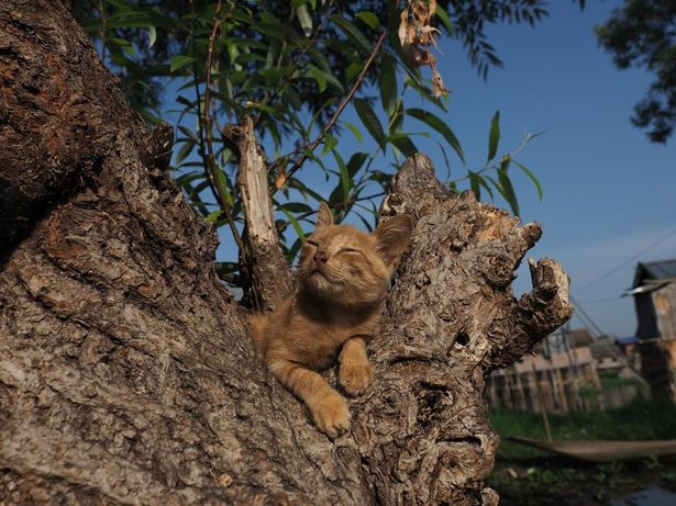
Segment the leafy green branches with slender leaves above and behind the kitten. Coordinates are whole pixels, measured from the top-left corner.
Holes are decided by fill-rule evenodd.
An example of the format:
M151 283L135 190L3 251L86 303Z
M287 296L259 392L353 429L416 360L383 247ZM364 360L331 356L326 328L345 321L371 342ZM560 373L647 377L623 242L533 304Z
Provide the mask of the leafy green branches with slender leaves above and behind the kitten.
M476 166L466 160L436 68L436 38L447 36L485 77L501 65L485 30L535 24L547 15L541 2L74 0L73 7L132 106L151 124L177 124L173 175L231 246L219 272L235 285L247 276L232 247L246 255L237 154L220 133L245 115L268 157L288 261L319 200L339 222L352 215L373 226L377 199L421 142L445 161L451 191L495 195L514 214L514 173L542 194L533 172L514 159L523 146L499 145L497 112L486 117L488 156Z

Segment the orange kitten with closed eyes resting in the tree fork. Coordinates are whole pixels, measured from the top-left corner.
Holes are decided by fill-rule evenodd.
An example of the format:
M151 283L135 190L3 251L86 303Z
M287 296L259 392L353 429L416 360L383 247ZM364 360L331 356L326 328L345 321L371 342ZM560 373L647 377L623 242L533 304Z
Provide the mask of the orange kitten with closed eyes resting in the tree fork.
M347 394L369 385L366 341L377 330L389 280L412 228L409 216L395 216L373 234L334 225L322 202L317 230L300 252L296 294L269 315L252 319L252 337L270 371L331 438L350 429L350 411L317 371L337 356L337 380Z

